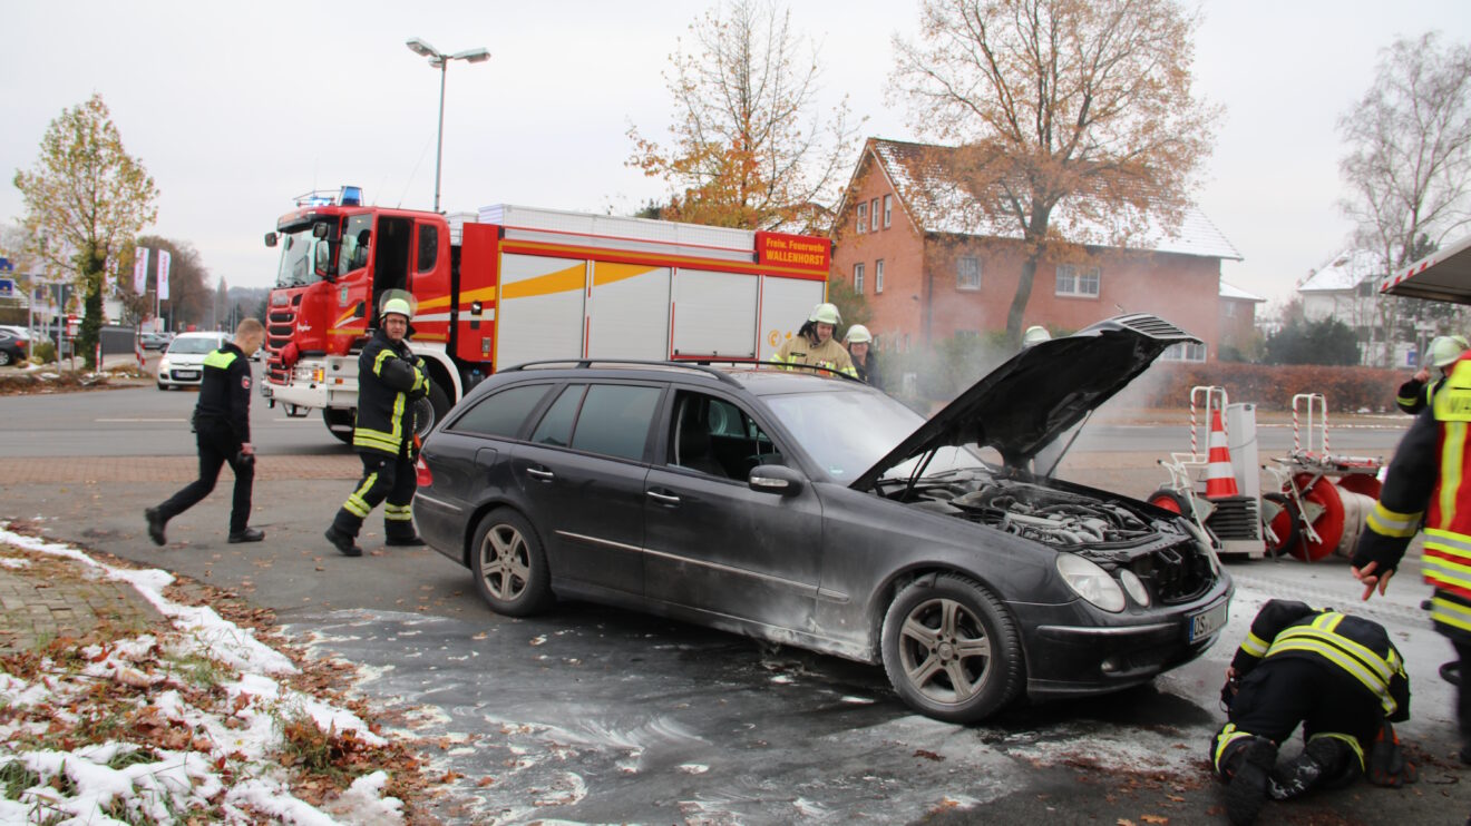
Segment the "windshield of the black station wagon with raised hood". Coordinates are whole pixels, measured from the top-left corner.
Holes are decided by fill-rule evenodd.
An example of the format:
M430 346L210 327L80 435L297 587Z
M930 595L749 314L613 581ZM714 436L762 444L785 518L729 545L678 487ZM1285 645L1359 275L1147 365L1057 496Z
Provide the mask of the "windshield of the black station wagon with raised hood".
M768 395L766 404L803 450L840 482L858 479L924 423L922 416L899 401L859 389ZM905 478L913 473L915 462L896 464L884 476ZM956 467L984 464L965 448L941 448L925 473Z

